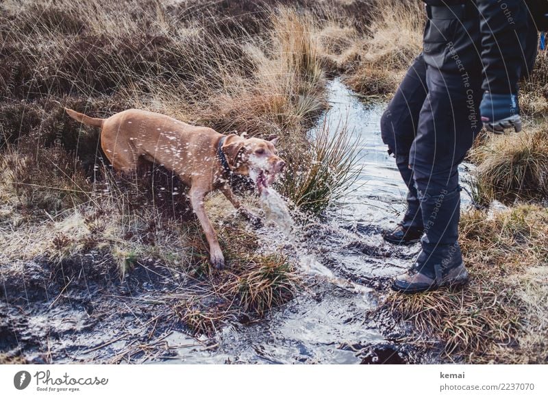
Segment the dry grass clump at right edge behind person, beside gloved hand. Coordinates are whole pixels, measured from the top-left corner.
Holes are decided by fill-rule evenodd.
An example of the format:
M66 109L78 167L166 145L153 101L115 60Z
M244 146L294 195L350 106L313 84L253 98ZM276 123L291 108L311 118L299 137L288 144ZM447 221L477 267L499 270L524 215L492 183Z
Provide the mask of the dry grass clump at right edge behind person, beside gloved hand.
M497 199L543 201L548 197L548 54L539 51L534 69L519 92L523 132L482 134L471 153L477 165L475 200L485 206Z

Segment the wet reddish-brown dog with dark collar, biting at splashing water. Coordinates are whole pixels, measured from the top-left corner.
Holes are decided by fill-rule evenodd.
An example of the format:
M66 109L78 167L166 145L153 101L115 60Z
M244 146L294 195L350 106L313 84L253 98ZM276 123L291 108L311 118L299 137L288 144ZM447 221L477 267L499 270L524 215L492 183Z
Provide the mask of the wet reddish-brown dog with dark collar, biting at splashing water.
M269 186L284 169L277 156L277 138L242 138L225 136L208 127L188 125L169 116L130 109L108 119L95 119L65 108L73 119L101 127L101 147L114 170L136 171L140 158L160 164L177 173L190 187L192 210L197 215L210 245L211 263L223 268L225 258L203 201L212 190L219 189L248 219L256 219L242 208L228 183L230 173L249 175L259 192Z

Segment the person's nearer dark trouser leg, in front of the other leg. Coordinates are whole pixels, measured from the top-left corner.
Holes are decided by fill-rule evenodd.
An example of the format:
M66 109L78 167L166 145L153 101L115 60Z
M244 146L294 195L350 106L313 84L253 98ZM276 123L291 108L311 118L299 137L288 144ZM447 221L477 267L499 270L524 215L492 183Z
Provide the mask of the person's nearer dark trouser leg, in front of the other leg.
M480 77L478 72L466 80L427 67L428 95L410 161L425 226L417 265L428 277L462 263L458 165L479 132Z

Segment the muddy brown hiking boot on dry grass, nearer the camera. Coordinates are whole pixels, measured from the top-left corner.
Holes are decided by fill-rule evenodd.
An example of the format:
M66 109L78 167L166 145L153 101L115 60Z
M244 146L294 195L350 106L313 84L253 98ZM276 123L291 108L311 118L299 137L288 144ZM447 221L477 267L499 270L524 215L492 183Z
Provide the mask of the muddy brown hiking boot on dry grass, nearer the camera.
M419 293L436 290L442 286L462 286L468 281L468 271L462 262L451 269L436 267L436 277L434 278L419 272L418 264L415 264L406 273L402 273L394 279L392 290L401 293Z

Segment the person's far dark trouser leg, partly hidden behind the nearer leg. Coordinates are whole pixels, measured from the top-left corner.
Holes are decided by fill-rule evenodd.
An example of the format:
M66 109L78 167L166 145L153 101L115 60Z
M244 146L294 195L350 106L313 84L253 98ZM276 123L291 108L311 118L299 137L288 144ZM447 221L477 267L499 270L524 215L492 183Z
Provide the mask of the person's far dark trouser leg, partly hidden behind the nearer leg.
M381 118L382 140L388 145L388 151L395 154L399 173L408 187L408 208L400 223L405 228L423 227L413 171L409 168L409 152L416 136L419 113L426 95L426 67L422 55L419 55Z

